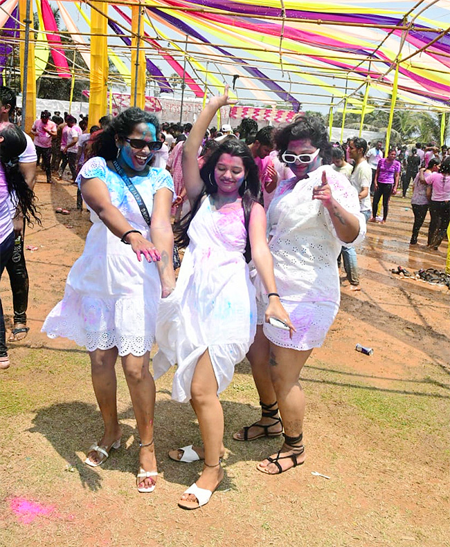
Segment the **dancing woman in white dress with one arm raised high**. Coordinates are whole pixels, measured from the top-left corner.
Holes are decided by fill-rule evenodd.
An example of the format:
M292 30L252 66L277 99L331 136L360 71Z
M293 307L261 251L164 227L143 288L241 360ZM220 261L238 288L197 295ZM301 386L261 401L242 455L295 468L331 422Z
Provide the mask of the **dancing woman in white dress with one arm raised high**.
M224 416L217 394L231 382L256 326L246 249L251 250L267 292L276 293L266 216L257 203L258 169L251 151L231 137L220 143L201 171L197 163L201 139L217 109L225 104L230 104L228 88L206 105L184 145L183 177L192 214L182 223L180 242L189 243L177 287L161 301L156 326L155 378L178 364L172 398L190 401L204 443L203 448L190 445L169 453L177 461L204 459L200 478L179 501L184 509L208 503L223 478ZM267 320L274 317L291 326L276 297L270 299L265 315Z

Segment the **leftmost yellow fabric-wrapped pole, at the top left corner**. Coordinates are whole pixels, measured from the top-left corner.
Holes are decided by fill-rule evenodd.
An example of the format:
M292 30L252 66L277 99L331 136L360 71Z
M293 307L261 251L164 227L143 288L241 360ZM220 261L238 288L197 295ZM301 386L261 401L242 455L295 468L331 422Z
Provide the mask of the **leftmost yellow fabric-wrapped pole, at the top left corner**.
M19 0L19 19L21 22L26 21L26 0ZM30 19L33 19L33 1L30 6ZM36 59L35 59L35 32L33 30L33 21L31 21L30 33L28 36L28 67L26 77L26 89L24 89L24 73L25 73L25 28L23 25L19 27L19 57L20 57L20 82L22 89L22 97L25 98L25 120L24 131L30 133L31 126L36 119ZM24 104L22 104L24 106Z

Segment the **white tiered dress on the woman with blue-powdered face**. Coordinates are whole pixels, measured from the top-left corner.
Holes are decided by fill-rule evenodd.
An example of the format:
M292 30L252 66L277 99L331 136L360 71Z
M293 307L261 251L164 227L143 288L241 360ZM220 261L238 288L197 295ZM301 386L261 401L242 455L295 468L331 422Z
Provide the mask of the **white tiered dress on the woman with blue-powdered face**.
M111 203L143 237L150 240L136 200L122 178L107 167L103 158L91 158L80 177L100 178ZM161 188L174 190L165 169L151 168L148 176L133 177L149 214L153 196ZM138 261L131 245L125 245L91 211L91 230L83 254L73 264L66 281L64 298L48 314L42 332L74 340L88 351L118 348L119 355L143 355L155 338L156 313L161 298L156 263Z

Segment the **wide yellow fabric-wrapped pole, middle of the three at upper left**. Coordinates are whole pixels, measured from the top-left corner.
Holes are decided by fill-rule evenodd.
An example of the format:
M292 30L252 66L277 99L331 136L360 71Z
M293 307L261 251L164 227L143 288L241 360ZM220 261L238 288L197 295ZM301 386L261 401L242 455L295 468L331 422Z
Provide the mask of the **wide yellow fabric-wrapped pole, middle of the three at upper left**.
M95 9L94 9L95 8ZM108 4L92 2L91 8L91 76L89 93L89 122L97 124L107 111L107 10Z

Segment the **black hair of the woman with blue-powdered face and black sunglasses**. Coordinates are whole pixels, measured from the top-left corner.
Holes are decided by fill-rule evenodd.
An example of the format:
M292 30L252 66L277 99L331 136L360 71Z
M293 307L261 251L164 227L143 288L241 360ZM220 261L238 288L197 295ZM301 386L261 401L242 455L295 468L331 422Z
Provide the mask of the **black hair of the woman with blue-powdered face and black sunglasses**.
M100 156L105 160L117 158L116 135L123 140L133 132L136 125L147 123L154 125L156 135L159 133L159 121L154 114L150 114L136 106L124 110L93 140L93 156Z

